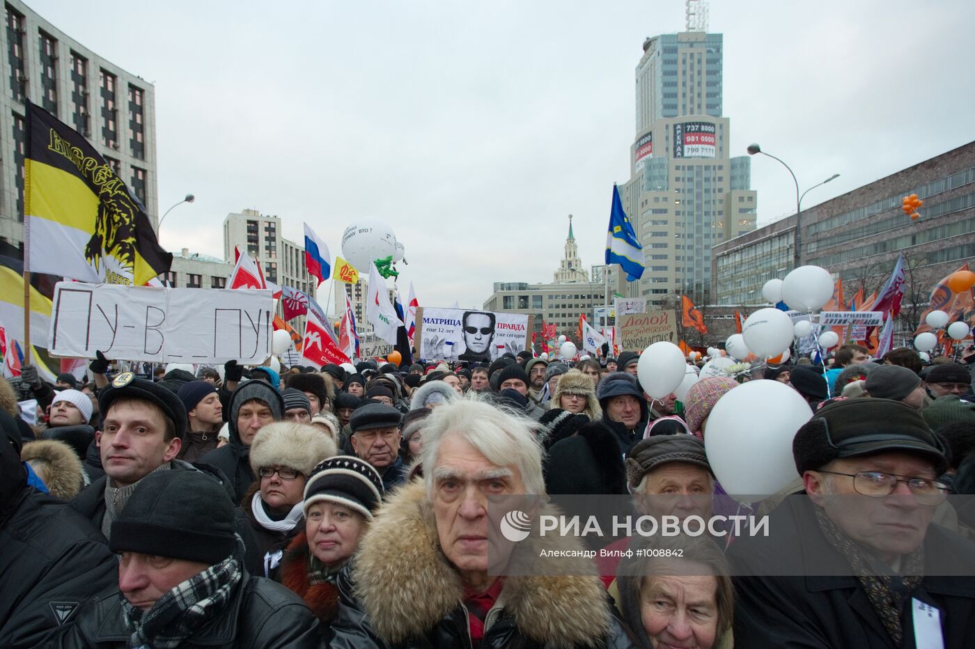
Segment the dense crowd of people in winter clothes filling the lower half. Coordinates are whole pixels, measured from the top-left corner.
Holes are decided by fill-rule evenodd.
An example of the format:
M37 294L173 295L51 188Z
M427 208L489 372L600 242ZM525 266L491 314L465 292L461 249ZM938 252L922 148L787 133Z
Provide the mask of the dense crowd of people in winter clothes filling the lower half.
M639 360L141 377L99 353L90 382L55 385L25 365L0 381L0 646L973 646L975 506L948 497L975 495L975 354L844 345L683 400L648 398ZM714 514L709 418L757 380L813 413L799 479L752 504L775 534L619 538L591 573L493 569L511 551L488 534L492 496Z

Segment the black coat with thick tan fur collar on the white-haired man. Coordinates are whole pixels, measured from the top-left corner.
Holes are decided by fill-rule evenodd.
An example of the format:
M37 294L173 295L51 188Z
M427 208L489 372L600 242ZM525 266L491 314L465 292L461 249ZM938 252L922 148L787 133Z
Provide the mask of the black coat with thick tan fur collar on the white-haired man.
M531 543L537 545L527 550L533 555L543 549L581 550L566 538ZM337 586L339 609L328 631L330 647L471 646L460 575L440 549L422 481L405 485L383 505ZM485 631L481 646L486 649L635 646L595 574L510 576L498 601L503 610Z

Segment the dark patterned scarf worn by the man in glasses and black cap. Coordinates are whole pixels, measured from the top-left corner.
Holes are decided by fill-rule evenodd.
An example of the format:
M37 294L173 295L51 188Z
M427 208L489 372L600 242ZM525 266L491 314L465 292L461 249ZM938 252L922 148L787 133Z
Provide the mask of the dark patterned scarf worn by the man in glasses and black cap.
M904 630L901 625L901 611L904 609L904 601L911 596L911 593L920 586L924 568L924 548L921 546L911 554L903 557L903 571L909 577L902 577L898 573L892 573L890 568L879 564L877 559L864 551L853 539L849 538L837 527L828 515L820 507L813 508L819 522L819 528L823 531L823 536L830 542L839 554L846 557L853 571L856 572L857 579L867 596L874 610L883 623L883 628L890 633L894 640L894 645L901 646L904 639Z

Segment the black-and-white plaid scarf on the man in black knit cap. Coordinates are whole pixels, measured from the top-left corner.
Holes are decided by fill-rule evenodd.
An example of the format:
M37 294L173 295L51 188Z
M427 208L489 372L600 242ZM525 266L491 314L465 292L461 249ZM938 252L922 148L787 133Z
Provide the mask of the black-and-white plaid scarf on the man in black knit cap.
M244 542L237 537L234 554L163 593L148 611L122 597L122 610L132 630L129 647L169 649L210 622L230 601L243 577Z

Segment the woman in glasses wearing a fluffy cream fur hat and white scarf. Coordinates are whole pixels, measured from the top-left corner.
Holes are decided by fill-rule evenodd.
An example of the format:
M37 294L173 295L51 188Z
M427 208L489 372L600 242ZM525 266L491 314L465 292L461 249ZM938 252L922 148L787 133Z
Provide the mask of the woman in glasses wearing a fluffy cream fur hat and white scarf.
M311 424L277 422L254 436L250 460L257 479L240 506L254 529L256 548L248 548L249 554L262 557L264 577L300 531L306 480L315 465L334 454L335 442Z

